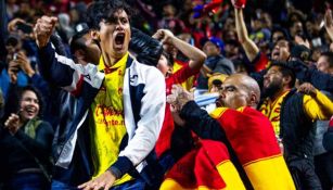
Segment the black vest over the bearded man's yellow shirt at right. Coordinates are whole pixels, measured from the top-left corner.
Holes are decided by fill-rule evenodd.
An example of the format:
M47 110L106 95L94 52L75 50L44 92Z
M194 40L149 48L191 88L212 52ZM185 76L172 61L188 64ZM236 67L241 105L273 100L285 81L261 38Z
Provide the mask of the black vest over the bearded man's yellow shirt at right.
M280 137L284 159L297 189L321 189L313 165L316 127L304 111L304 94L290 91L284 98L280 113Z

